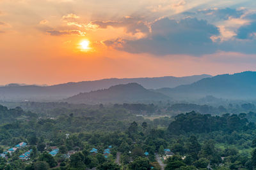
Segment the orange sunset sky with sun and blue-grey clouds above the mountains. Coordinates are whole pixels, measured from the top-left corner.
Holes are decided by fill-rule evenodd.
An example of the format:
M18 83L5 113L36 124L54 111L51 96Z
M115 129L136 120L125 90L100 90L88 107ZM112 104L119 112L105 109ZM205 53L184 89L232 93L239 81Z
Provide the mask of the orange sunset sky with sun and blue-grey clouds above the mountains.
M0 0L0 85L256 71L255 0Z

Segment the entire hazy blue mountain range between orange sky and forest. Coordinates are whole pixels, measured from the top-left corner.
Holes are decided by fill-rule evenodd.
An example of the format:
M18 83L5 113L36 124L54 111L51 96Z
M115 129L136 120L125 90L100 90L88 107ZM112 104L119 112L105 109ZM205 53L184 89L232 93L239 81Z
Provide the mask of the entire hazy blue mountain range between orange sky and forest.
M185 83L189 84L184 85ZM175 87L176 85L179 86ZM204 74L182 78L111 78L47 87L17 84L0 87L0 100L3 101L27 99L48 102L65 99L64 101L70 103L93 104L165 99L189 101L202 99L205 96L240 100L256 99L256 72L246 71L213 77Z

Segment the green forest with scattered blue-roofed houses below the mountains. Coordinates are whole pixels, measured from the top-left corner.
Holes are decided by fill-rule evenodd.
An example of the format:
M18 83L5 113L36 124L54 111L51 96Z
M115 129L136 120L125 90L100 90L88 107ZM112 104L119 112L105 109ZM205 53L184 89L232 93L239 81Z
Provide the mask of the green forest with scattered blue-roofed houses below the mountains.
M241 104L241 110L247 105ZM199 105L1 105L0 169L256 167L256 113L249 111L252 106L239 114L168 112L179 106ZM228 111L230 107L223 108ZM218 111L220 107L215 108ZM166 113L161 115L162 111ZM26 146L16 147L19 143Z

